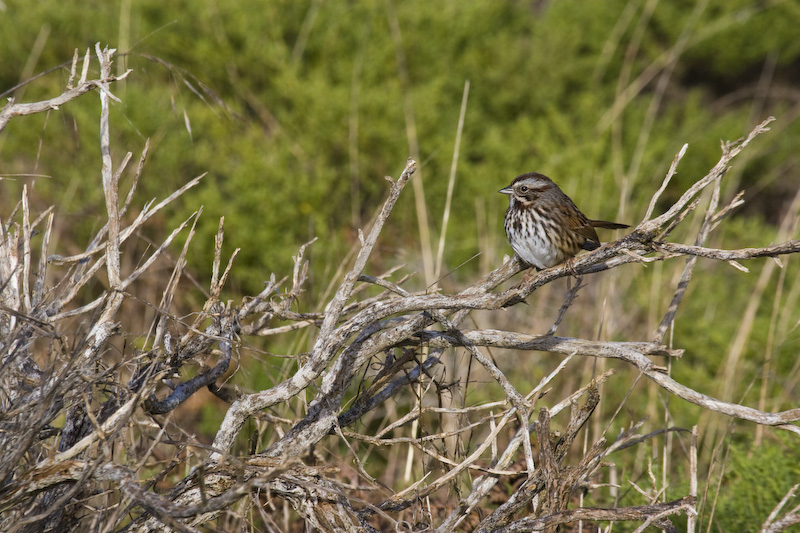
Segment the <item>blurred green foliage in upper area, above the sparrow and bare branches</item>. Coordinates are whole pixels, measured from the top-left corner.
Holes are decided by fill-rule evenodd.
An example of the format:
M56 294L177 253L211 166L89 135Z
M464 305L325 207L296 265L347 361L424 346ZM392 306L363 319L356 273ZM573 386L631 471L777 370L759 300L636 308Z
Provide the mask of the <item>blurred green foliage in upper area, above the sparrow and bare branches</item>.
M163 197L209 172L171 223L205 206L194 247L202 265L225 215L228 244L243 249L237 280L252 292L270 271L285 271L312 236L321 240L313 253L342 259L385 194L382 177L397 175L408 155L404 98L435 238L469 79L446 255L454 266L476 251L479 232L500 228L499 220L477 227L476 202L502 204L494 191L516 174L545 172L592 216L609 218L625 182L624 212L635 217L683 142L691 142L691 157L672 194L716 159L717 139L745 132L773 111L766 108L781 109L754 91L765 62L777 63L776 84L796 65L795 4L711 1L703 10L673 2L652 11L641 4L130 0L76 9L12 1L0 19L0 87L68 60L74 48L125 38L127 56L118 62L134 72L117 86L123 104L113 115L114 146L138 152L143 138L153 140L143 197ZM690 38L679 47L684 33ZM37 35L43 46L34 56ZM646 117L658 70L613 111L615 96L676 48L683 55L652 126ZM66 76L62 69L26 86L24 99L54 94ZM719 104L736 91L744 94ZM753 116L754 106L764 109ZM29 171L36 162L51 176L37 184L40 192L65 214L91 214L98 202L74 199L99 197L85 175L92 152L80 149L96 144L95 113L87 99L53 114L46 127L12 123L0 141L4 171ZM779 127L797 130L794 122ZM771 138L768 151L788 157L788 133L785 141ZM764 178L746 172L743 179ZM593 192L609 201L593 204ZM384 245L389 257L425 245L415 216L407 195L388 228L396 237Z

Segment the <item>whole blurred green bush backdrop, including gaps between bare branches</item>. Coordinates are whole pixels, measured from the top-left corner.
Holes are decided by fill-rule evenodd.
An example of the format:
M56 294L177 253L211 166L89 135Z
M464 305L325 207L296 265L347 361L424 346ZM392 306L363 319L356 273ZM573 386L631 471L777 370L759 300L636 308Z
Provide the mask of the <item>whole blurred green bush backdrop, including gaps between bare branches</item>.
M321 308L357 230L367 226L386 193L383 176L396 176L415 145L423 194L415 198L406 191L371 273L404 264L404 271L419 272L412 287L430 284L423 250L435 252L442 231L465 80L469 100L442 272L481 255L448 276L445 290L463 287L510 253L502 232L507 199L496 191L517 174L543 172L590 217L634 224L684 143L689 152L664 204L716 162L720 139L743 135L768 115L778 118L772 132L757 139L726 176L723 203L742 189L747 203L709 244L767 245L778 240L784 222L794 231L800 184L796 2L6 0L0 9L4 97L32 101L58 94L68 68L7 89L69 61L76 48L82 55L99 41L125 54L118 66L134 72L114 89L122 99L111 117L112 146L120 150L114 159L123 150L138 153L151 139L139 203L209 173L181 201L183 210L148 231L162 235L203 205L190 269L207 285L213 235L224 215L226 247L242 248L228 286L233 299L255 293L271 272L288 273L297 247L318 237L304 304ZM0 213L5 219L22 186L33 187L39 209L56 205L56 249L65 255L85 247L82 237L105 216L96 123L96 101L83 98L58 112L12 121L0 133ZM87 172L92 168L97 172ZM420 205L429 221L427 240L418 229ZM681 240L681 233L671 239ZM682 268L682 261L673 263L629 265L592 277L560 333L649 338ZM797 405L800 285L793 260L784 263L780 270L754 261L744 274L700 262L702 277L691 286L671 335L675 347L687 349L673 363L676 379L747 405L763 401L768 410ZM502 327L546 331L563 297L563 285L555 285L535 294L532 305L520 306L526 309L508 313ZM185 297L187 309L202 301L191 292ZM754 306L752 319L748 306ZM145 334L147 316L130 321ZM302 340L260 347L280 353L295 343ZM741 357L732 356L737 350ZM454 361L465 357L454 355ZM525 381L538 381L557 361L502 357L507 370L519 368L515 379ZM575 382L596 370L586 365L576 366ZM283 362L262 357L235 379L264 388L282 372ZM609 414L627 386L608 391ZM787 475L780 483L769 477L775 483L765 491L772 496L753 502L759 507L747 513L752 524L760 524L800 481L796 471L780 467L787 457L800 464L796 439L771 429L757 434L749 424L701 416L699 408L683 403L665 410L659 390L640 387L636 393L647 401L626 406L630 419L650 415L658 427L668 412L671 425L701 424L711 489L720 476L729 489L721 492L722 509L741 512L737 498L766 479L748 478L748 471L759 471L747 467L755 461L747 454L754 443L764 450L758 461L772 465L763 467L765 476L773 468ZM224 412L211 401L186 409L204 420L198 427L209 438ZM728 445L735 475L721 472L715 452ZM655 457L658 451L648 453ZM646 464L640 459L639 466ZM656 470L659 461L653 459ZM680 491L678 467L669 476ZM713 520L732 530L743 518L718 509Z

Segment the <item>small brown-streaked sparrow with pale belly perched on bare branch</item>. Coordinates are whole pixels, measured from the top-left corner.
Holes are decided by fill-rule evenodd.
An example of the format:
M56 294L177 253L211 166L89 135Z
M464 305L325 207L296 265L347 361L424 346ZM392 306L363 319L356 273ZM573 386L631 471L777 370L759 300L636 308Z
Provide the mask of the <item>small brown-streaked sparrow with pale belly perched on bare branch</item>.
M526 263L538 269L567 261L581 249L600 247L594 228L620 229L626 224L589 220L569 196L545 175L530 172L498 192L509 195L506 236Z

